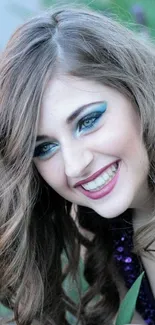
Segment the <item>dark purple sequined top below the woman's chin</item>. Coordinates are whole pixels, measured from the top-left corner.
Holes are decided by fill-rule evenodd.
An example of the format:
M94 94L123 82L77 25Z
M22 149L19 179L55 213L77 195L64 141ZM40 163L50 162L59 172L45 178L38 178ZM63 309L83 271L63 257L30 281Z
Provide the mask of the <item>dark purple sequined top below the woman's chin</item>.
M144 270L140 258L136 254L132 253L132 219L113 219L112 236L114 244L114 257L117 267L125 280L127 288L130 288L133 282ZM153 297L146 273L143 278L137 299L136 310L140 313L146 324L155 325L155 299Z

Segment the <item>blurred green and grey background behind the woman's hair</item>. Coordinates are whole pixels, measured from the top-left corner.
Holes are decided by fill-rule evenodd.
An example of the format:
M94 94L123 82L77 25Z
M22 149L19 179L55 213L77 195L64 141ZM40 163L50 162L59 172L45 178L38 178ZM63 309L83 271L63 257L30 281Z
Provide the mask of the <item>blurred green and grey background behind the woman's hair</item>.
M33 2L33 0L32 0ZM79 0L79 1L59 1L59 0L38 0L38 9L42 10L51 5L58 4L82 4L91 7L95 10L105 12L107 15L116 15L123 23L128 24L131 28L141 33L142 37L155 37L155 0ZM22 19L27 19L37 12L25 8L22 3L9 1L12 15L21 15ZM9 10L9 7L8 7ZM13 32L13 30L12 30ZM82 272L81 272L82 273ZM81 277L83 290L86 290L87 284ZM65 289L70 292L74 300L77 299L77 293L74 288L70 287L69 281L65 282ZM10 315L10 312L0 305L0 324L1 317ZM69 315L71 324L74 324L74 319Z

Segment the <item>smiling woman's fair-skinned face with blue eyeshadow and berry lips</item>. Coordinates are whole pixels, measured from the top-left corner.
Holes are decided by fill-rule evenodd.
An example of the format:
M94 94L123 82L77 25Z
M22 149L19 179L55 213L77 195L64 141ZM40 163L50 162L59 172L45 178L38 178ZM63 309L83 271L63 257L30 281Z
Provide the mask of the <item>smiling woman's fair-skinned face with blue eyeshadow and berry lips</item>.
M112 218L145 205L148 156L140 118L113 88L75 77L45 91L34 161L62 197Z

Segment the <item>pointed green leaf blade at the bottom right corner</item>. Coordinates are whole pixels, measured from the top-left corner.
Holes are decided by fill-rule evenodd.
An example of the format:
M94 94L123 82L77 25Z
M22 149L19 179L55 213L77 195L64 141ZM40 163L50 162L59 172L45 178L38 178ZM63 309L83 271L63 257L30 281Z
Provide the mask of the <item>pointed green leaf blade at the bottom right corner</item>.
M131 324L143 275L144 272L140 274L123 299L118 311L116 325Z

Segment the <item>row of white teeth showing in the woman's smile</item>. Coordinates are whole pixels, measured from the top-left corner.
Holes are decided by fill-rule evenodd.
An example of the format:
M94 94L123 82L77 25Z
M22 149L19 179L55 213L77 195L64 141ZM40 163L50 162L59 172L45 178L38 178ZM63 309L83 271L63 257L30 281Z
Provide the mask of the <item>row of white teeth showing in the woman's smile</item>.
M106 170L106 172L103 172L95 180L88 182L86 184L83 184L82 187L87 191L98 191L104 185L109 183L109 181L111 181L111 179L116 174L117 169L118 169L118 164L115 163L112 166L110 166Z

